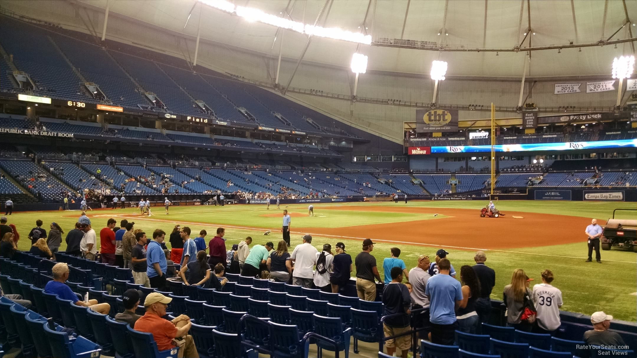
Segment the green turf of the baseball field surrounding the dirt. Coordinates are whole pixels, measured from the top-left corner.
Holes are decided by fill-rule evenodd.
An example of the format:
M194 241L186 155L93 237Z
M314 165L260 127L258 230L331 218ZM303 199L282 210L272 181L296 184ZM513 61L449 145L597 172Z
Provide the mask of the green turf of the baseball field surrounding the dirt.
M461 201L461 202L410 202L404 203L339 203L339 204L315 204L315 214L318 217L294 217L292 219L292 231L303 231L303 228L320 227L343 227L355 224L377 224L391 222L405 222L412 220L422 220L431 215L421 216L421 214L406 214L392 212L392 207L397 205L404 207L422 207L423 214L436 212L436 208L463 208L480 209L487 201ZM387 212L361 212L357 208L353 210L324 210L328 207L343 207L357 205L373 205L375 207L387 207ZM285 205L281 205L282 209ZM625 208L634 209L634 203L606 203L606 202L549 202L549 201L501 201L497 203L497 208L504 212L543 212L547 214L562 214L569 216L596 217L606 220L612 216L613 209ZM306 214L307 205L289 205L290 212ZM135 209L115 209L96 210L89 212L93 227L99 234L99 230L106 224L108 217L115 217L118 221L120 216L132 216L138 212ZM154 209L153 217L134 217L136 228L142 228L147 233L155 228L161 228L169 233L175 223L182 226L190 226L193 235L199 230L205 229L210 235L215 232L217 225L238 226L237 228L226 228L227 247L240 242L247 236L254 238L255 244L264 244L268 241L278 242L281 235L278 231L273 231L271 235L264 236L261 229L254 228L280 228L280 216L282 214L273 206L265 210L262 205L226 205L225 207L171 207L169 216L164 214L161 207ZM274 214L273 217L263 215ZM63 217L72 216L72 217ZM64 231L68 231L75 223L79 212L17 212L10 216L10 223L16 224L20 232L20 242L18 248L29 249L27 235L34 226L36 219L45 222L44 228L48 231L48 225L56 221L62 226ZM624 212L622 218L635 218L635 214ZM199 222L202 224L187 224L188 222ZM240 226L240 227L239 227ZM585 228L573 228L576 231L584 231ZM471 235L471 233L462 233ZM511 240L516 239L515 232L509 233ZM550 228L538 227L538 235L550 235ZM301 233L292 234L292 246L300 244ZM62 235L66 237L66 233ZM388 235L387 240L400 240ZM63 240L64 241L64 240ZM340 239L334 237L314 236L312 242L317 249L322 248L324 243L336 242L345 243L348 253L352 259L361 250L361 240ZM62 250L66 245L62 244ZM378 242L372 254L378 260L378 268L382 274L382 260L389 257L390 247L398 246L402 250L401 258L404 259L408 268L413 268L416 259L420 254L428 254L432 258L435 256L438 245L422 244L391 244ZM441 243L440 247L444 247ZM590 315L590 313L604 310L615 319L635 322L637 320L637 255L629 251L603 251L603 264L585 263L586 256L585 240L582 243L566 245L550 245L543 247L526 247L510 250L489 250L487 251L487 265L496 270L496 287L492 293L492 298L502 299L502 289L510 281L510 275L515 268L526 270L529 277L536 279L532 284L540 283L540 272L546 268L555 274L554 286L562 290L564 296L563 310L579 312ZM457 271L462 265L473 265L473 251L447 249L450 252L448 258Z

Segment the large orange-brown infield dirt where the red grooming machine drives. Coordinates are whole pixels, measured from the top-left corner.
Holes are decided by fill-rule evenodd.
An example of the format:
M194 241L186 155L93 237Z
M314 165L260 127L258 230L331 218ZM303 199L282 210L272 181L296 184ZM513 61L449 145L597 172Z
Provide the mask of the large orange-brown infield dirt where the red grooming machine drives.
M361 210L376 212L410 212L431 216L434 213L450 217L436 220L407 221L402 223L348 226L347 228L297 228L317 235L335 235L350 238L371 238L412 242L414 244L440 244L441 246L477 247L482 249L512 249L571 244L585 244L584 231L590 224L586 217L538 214L534 212L505 212L503 217L480 217L476 209L447 209L430 207L373 207L347 206L321 210ZM514 219L522 216L524 219ZM598 220L602 226L604 223ZM354 224L354 223L352 223Z

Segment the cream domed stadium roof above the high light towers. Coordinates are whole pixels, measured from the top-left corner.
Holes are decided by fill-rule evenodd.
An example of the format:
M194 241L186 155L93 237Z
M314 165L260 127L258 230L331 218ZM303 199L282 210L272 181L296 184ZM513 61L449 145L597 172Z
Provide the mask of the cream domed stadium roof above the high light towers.
M107 0L83 2L106 8ZM313 24L327 4L318 25L363 31L375 43L357 45L315 36L303 60L348 68L352 53L358 48L369 56L368 71L426 74L431 61L441 59L448 62L450 76L520 77L525 48L530 45L533 51L527 76L610 75L613 57L634 53L634 42L629 39L637 38L634 26L637 1L236 0L234 3L281 17L286 15L287 8L289 18L306 24ZM192 16L184 28L191 10ZM196 36L201 15L202 38L278 55L278 43L274 43L277 27L250 22L195 0L111 0L110 11L187 36ZM298 59L307 36L287 30L283 37L283 57ZM433 45L430 50L378 46L376 41L382 38L435 44L430 44ZM598 45L601 40L610 44ZM522 49L513 52L520 43ZM441 45L445 47L442 52L436 50Z

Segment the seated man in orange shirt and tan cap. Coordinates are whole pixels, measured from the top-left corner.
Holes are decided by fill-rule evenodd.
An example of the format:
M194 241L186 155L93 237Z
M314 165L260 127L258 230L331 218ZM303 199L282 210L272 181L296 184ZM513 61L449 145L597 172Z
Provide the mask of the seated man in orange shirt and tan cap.
M172 300L161 293L148 294L144 301L146 313L135 322L134 328L136 331L152 333L160 351L179 347L179 358L199 358L192 336L187 334L192 326L190 318L187 315L180 315L173 320L162 318Z

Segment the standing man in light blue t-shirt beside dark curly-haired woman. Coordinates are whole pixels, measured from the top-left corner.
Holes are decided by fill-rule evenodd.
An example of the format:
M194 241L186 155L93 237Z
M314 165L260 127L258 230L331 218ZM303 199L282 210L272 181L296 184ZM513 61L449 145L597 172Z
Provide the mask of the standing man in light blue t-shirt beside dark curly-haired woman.
M458 327L455 310L462 302L462 286L449 275L451 263L448 259L438 261L438 275L427 280L425 296L429 298L429 321L431 343L453 345Z

